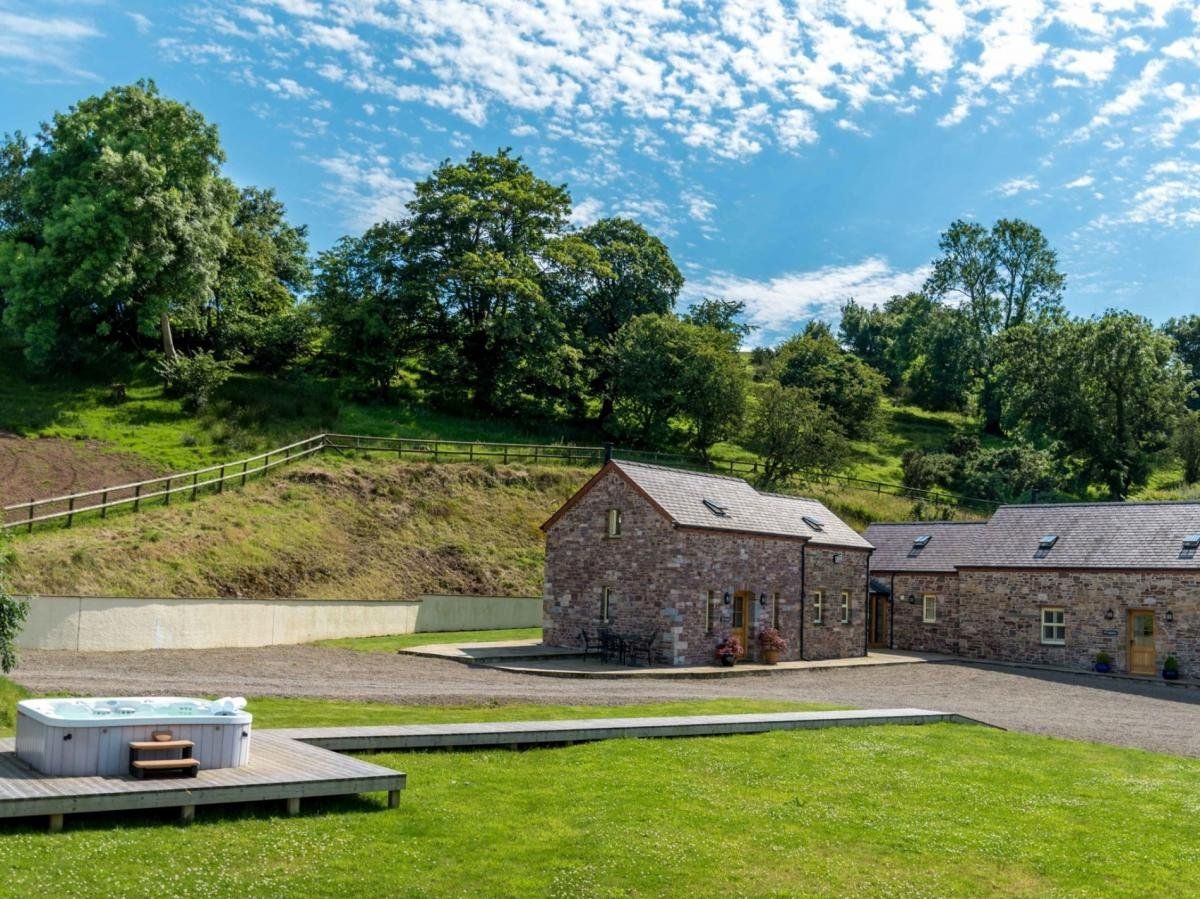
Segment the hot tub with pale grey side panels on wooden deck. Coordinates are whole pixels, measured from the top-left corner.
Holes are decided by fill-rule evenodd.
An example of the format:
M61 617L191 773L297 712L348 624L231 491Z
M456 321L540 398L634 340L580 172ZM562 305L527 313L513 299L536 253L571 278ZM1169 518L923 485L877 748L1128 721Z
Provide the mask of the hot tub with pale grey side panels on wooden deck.
M17 756L43 774L126 774L130 742L168 731L174 739L196 744L192 757L200 771L238 768L250 759L251 715L245 706L241 697L22 700L17 703Z

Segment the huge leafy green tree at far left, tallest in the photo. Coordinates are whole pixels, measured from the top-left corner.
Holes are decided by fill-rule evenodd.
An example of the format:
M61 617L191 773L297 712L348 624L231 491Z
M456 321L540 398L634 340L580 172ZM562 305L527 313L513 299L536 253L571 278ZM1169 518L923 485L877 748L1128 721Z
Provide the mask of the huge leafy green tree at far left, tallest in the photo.
M0 152L0 293L31 361L142 349L198 324L236 202L216 126L154 82L113 88Z

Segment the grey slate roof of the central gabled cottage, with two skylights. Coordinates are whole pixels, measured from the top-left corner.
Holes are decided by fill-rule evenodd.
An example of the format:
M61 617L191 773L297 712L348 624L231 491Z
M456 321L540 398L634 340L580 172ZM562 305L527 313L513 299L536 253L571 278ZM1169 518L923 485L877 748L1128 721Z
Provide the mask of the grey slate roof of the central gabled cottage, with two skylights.
M776 537L803 537L814 545L871 549L850 525L816 499L760 493L740 478L665 468L642 462L614 461L624 474L662 507L682 527L742 531ZM724 507L716 515L704 501ZM823 525L810 527L804 516Z

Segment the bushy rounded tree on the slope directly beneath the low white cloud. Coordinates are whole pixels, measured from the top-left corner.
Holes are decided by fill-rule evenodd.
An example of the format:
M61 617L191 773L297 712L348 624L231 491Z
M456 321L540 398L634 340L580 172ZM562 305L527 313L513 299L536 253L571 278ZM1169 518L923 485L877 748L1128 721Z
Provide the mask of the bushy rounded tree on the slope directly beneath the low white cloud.
M884 377L842 349L829 325L812 320L776 349L775 376L784 386L810 391L841 422L847 436L870 432L883 397Z

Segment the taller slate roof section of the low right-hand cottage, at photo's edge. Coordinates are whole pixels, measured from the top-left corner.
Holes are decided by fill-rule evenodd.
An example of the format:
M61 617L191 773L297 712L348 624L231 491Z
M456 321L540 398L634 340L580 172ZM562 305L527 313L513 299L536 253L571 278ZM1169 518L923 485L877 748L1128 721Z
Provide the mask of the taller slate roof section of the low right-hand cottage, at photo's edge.
M1054 546L1038 551L1043 535ZM976 543L967 568L1200 569L1183 538L1200 534L1200 503L1002 505Z

